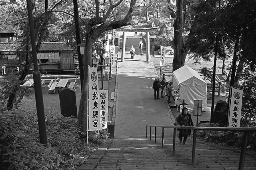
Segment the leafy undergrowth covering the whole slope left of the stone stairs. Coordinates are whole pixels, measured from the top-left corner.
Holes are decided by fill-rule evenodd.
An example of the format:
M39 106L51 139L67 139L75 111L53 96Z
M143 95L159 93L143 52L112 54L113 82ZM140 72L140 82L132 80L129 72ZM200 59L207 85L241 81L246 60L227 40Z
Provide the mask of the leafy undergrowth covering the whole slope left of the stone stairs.
M39 141L36 113L6 111L0 108L0 167L13 170L38 168L74 170L108 138L105 130L92 131L86 138L77 119L62 115L46 115L48 144L61 148L62 156L48 152Z

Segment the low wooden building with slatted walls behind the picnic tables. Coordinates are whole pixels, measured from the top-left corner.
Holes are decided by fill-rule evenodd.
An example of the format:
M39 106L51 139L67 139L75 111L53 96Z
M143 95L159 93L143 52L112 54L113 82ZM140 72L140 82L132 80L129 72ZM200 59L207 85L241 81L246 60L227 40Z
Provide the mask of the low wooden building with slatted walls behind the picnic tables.
M21 42L0 43L0 68L4 65L7 68L14 65L22 67L23 61L19 53L15 54L20 45ZM74 66L78 64L78 59L74 57L75 52L76 49L66 46L65 43L42 43L37 54L38 69L41 73L74 72ZM34 69L33 64L30 69Z

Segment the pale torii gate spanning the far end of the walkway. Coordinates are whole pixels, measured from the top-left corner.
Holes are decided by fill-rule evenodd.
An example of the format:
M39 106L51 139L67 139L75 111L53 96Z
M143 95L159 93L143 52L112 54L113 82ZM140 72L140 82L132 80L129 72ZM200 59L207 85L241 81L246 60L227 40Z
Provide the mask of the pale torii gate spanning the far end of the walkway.
M125 53L125 45L126 45L126 32L146 32L146 61L150 60L150 32L155 32L159 29L159 27L150 27L150 28L118 28L117 31L123 32L123 40L122 40L122 56L121 61L124 62L124 53ZM151 36L151 38L156 38L156 36Z

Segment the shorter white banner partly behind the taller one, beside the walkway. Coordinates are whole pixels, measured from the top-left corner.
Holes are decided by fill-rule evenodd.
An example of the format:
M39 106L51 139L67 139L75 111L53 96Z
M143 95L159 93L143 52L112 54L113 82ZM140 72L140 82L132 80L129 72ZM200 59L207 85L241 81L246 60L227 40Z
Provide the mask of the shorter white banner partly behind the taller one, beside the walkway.
M100 129L108 127L108 90L100 89Z

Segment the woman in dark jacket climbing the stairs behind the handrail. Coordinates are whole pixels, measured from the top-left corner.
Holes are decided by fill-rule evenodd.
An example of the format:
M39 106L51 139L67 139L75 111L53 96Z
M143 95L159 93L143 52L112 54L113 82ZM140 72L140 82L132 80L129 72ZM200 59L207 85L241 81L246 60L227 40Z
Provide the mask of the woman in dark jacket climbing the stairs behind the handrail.
M184 107L182 109L181 114L178 116L177 122L181 127L193 127L194 126L193 121L191 119L191 115L188 113L188 109L186 107ZM179 129L179 131L180 131L180 134L179 134L180 144L182 144L183 131L184 131L183 144L185 144L185 142L188 138L188 135L191 134L191 129Z

